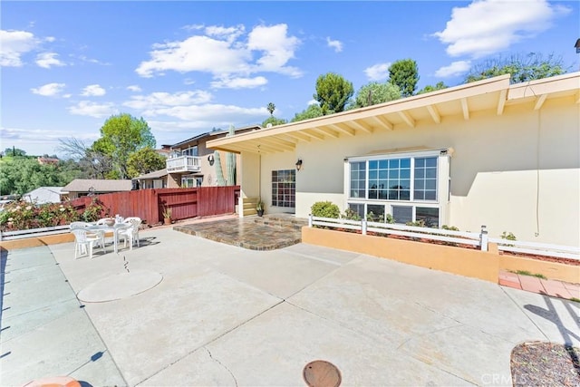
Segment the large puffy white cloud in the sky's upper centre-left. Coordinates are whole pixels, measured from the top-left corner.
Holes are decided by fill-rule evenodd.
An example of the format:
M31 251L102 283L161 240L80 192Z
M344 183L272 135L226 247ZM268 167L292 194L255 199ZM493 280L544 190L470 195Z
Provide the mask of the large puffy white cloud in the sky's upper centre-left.
M208 26L204 33L183 41L153 44L150 60L140 63L135 72L143 77L166 71L204 72L218 80L258 72L301 75L298 69L286 66L300 44L298 38L287 35L286 24L258 25L247 34L247 41L242 39L243 25ZM261 56L254 60L256 52Z

